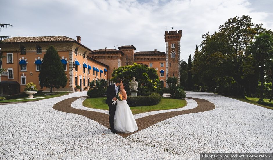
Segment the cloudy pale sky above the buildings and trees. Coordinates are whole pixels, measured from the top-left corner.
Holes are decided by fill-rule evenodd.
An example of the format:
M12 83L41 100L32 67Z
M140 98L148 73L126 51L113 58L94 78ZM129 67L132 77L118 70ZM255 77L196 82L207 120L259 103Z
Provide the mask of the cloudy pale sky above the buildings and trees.
M249 15L273 29L272 0L1 0L5 36L57 36L91 50L134 45L136 51L166 52L166 29L182 30L181 59L193 56L202 34L218 31L229 18ZM118 48L116 48L118 49Z

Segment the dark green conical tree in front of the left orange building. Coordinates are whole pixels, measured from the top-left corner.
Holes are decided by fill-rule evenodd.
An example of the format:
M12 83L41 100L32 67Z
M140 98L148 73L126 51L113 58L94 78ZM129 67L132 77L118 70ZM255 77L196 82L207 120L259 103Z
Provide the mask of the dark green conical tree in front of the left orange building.
M64 88L67 84L64 67L60 61L60 55L53 46L46 49L46 54L42 61L41 70L39 73L41 88L50 88L52 93L53 88Z

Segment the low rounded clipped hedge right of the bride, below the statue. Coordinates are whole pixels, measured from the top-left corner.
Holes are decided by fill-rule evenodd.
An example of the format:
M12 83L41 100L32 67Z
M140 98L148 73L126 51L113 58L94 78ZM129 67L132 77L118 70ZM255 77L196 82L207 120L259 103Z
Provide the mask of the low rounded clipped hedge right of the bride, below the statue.
M158 93L152 93L148 96L139 96L137 93L137 97L131 97L131 96L127 97L127 103L130 107L152 106L152 105L158 104L160 101L161 101L161 97Z

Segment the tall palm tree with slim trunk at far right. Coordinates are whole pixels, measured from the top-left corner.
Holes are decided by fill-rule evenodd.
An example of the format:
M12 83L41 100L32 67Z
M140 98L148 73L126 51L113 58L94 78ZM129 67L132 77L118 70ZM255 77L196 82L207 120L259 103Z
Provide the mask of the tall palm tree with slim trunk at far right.
M264 71L265 71L265 61L269 58L269 51L272 50L273 47L273 37L268 33L261 33L258 36L255 36L255 41L252 44L253 54L257 58L260 64L260 80L261 80L261 88L260 88L260 99L258 102L263 101L263 95L265 92L264 83Z

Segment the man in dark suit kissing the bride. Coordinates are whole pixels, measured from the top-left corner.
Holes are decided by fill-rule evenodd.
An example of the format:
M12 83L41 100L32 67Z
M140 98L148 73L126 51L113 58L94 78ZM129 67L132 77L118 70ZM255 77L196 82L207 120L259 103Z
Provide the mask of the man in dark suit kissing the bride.
M110 128L111 132L116 133L116 130L114 129L114 116L116 112L116 103L112 105L114 101L116 101L116 94L118 93L119 86L122 84L122 79L117 79L116 83L112 84L107 88L106 95L106 104L108 104L109 107L109 123L110 123ZM114 100L114 101L112 101Z

